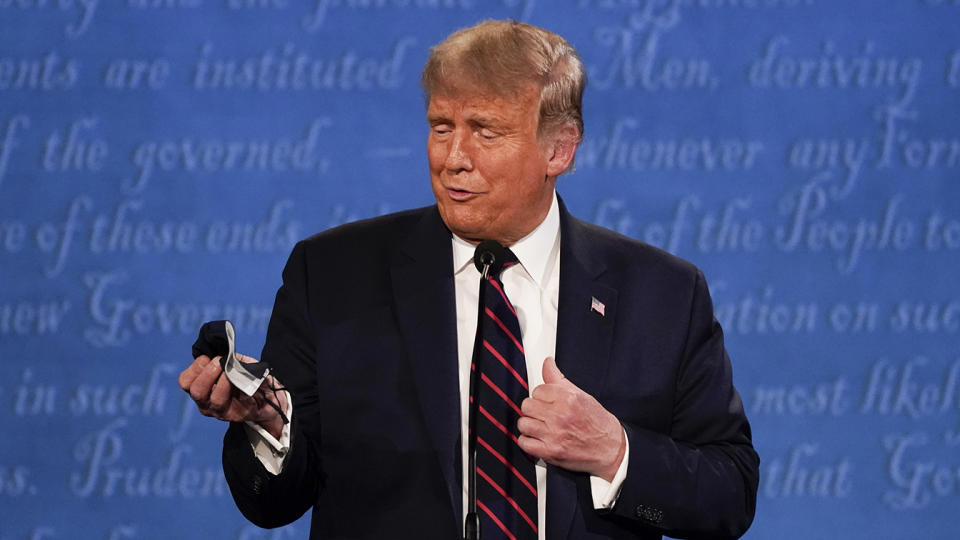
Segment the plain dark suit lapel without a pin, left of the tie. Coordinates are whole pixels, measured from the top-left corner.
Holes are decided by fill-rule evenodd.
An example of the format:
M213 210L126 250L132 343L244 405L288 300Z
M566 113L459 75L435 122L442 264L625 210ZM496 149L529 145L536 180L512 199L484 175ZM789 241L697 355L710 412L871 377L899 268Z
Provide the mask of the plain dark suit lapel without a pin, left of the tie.
M450 233L436 207L398 246L390 272L398 325L459 529L463 503L453 255Z

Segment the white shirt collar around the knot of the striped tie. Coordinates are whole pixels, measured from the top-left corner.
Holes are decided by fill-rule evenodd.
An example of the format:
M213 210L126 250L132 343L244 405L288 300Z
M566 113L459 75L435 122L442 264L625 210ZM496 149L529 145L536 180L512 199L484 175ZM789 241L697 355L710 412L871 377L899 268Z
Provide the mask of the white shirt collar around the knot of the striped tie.
M547 217L543 218L530 234L510 246L510 250L520 261L520 265L534 282L540 287L548 278L551 262L556 261L560 248L560 206L557 203L557 193L553 193L553 201ZM467 242L457 235L453 235L453 273L459 274L473 265L473 254L477 246Z

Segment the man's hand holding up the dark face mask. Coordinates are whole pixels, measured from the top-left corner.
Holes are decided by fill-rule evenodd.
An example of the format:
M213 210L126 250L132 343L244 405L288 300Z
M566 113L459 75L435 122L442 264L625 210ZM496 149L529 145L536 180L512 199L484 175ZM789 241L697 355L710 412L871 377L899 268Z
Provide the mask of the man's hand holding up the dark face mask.
M237 354L237 359L241 362L254 361L241 354ZM281 410L286 410L287 396L286 392L270 390L278 387L273 376L267 377L256 394L248 396L223 376L219 356L211 359L201 355L180 373L178 382L180 388L196 402L201 414L227 422L254 422L277 439L280 438L283 418L267 400L279 405Z

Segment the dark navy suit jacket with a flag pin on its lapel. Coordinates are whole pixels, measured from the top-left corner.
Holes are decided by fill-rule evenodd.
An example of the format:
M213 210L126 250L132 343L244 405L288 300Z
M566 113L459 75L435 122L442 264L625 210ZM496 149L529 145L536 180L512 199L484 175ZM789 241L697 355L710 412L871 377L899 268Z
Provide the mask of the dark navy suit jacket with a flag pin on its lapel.
M702 274L562 202L560 223L557 364L621 421L630 460L605 512L586 474L549 466L547 537L739 536L758 458ZM291 452L273 476L239 425L224 440L224 473L253 523L312 508L311 539L460 538L450 238L434 206L294 248L262 354L293 394Z

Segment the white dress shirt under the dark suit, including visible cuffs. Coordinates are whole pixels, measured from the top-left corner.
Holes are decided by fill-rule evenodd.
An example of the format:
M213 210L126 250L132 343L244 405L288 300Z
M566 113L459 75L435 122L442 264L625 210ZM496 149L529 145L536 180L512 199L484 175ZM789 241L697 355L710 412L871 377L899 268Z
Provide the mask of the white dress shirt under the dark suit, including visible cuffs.
M476 246L454 236L453 273L457 306L457 351L460 382L460 436L463 463L463 515L467 508L467 420L469 416L468 400L470 396L470 362L473 354L473 340L477 329L477 303L480 284L480 272L473 264ZM513 265L501 274L504 292L510 298L520 322L521 340L526 352L527 383L532 392L543 384L543 361L554 356L557 343L557 305L560 295L560 208L554 193L553 203L547 217L530 234L509 246L520 264ZM287 394L287 417L292 418L292 396ZM247 422L247 435L254 453L264 467L273 474L279 474L283 460L289 453L290 424L283 427L283 434L277 440L266 430ZM624 440L626 434L624 433ZM620 494L620 487L626 479L627 460L630 447L627 445L623 461L613 478L613 482L591 476L590 490L595 509L610 508ZM547 467L543 461L536 465L537 474L537 516L540 524L539 538L546 537L547 504Z

